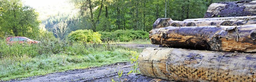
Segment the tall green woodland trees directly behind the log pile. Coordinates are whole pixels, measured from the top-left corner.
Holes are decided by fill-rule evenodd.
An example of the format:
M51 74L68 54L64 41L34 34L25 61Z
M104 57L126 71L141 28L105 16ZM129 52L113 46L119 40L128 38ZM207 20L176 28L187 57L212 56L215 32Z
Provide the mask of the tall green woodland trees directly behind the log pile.
M84 18L80 21L94 31L150 31L156 19L165 17L165 7L166 18L182 21L203 18L213 2L238 0L103 0L103 3L102 0L71 1L80 10L80 17Z

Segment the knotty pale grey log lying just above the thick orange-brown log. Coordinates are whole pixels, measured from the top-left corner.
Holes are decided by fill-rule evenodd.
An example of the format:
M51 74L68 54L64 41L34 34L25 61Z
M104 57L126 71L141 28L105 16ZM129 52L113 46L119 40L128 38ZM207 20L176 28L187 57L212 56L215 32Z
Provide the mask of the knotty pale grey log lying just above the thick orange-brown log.
M153 24L153 29L168 26L209 26L209 25L248 25L256 24L256 20L215 20L215 21L174 21L171 18L159 18Z

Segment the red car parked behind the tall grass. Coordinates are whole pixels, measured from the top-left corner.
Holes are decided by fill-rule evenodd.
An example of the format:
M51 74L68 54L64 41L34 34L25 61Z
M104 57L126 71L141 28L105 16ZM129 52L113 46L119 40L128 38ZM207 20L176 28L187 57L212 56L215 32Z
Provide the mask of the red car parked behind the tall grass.
M27 37L6 37L7 44L12 43L28 43L28 44L36 44L40 43L40 41L33 41Z

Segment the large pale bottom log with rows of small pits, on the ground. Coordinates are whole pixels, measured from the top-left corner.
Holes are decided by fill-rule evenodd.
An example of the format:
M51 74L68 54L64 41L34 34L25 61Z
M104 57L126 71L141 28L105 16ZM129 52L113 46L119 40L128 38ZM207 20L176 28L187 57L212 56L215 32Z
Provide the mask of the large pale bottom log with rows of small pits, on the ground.
M146 76L183 82L256 82L256 55L146 48L139 56Z

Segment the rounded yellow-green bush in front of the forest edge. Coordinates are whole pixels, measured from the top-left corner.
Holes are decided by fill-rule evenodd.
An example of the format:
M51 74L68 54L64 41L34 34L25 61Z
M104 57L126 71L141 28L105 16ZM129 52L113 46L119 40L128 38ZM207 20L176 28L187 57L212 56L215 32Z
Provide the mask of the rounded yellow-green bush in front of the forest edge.
M76 30L68 34L68 39L80 43L101 43L100 34L92 30Z

